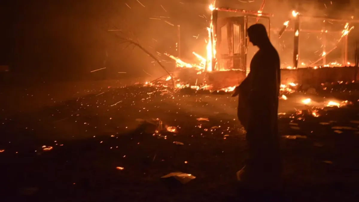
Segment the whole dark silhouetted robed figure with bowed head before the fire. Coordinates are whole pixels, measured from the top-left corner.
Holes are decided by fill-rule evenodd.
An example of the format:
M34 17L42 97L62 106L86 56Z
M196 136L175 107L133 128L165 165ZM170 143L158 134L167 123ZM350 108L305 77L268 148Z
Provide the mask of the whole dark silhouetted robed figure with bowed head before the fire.
M239 95L238 118L247 131L250 156L246 166L237 172L237 178L254 188L274 188L281 179L280 60L264 25L252 25L247 31L250 42L259 50L251 61L250 73L233 94Z

